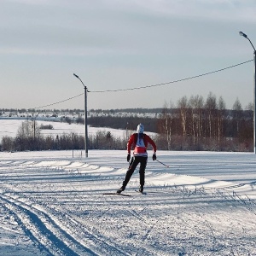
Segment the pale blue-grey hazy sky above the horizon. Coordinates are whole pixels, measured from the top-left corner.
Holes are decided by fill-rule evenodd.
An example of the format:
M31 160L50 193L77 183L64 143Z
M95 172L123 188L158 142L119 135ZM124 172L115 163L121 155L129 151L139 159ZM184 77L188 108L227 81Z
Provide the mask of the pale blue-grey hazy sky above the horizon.
M0 108L38 108L90 90L88 108L162 108L211 91L253 102L255 0L1 0ZM84 108L84 97L47 108Z

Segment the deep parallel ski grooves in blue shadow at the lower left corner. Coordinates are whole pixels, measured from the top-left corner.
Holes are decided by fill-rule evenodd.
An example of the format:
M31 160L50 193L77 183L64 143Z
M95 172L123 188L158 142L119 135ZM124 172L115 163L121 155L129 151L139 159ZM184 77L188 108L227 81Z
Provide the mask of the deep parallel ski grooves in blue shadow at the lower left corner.
M8 195L1 195L1 198L5 201L9 210L19 218L19 224L26 230L26 234L32 241L36 241L40 248L46 247L49 253L61 256L77 256L84 252L87 255L97 255L58 226L47 213L17 201ZM79 250L79 253L71 247L74 247L76 251Z

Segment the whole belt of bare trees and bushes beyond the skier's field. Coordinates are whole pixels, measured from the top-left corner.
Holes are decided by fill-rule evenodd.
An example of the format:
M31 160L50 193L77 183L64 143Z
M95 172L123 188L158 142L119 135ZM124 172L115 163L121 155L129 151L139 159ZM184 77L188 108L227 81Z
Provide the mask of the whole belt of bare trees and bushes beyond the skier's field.
M62 109L54 113L61 115L62 121L84 123L83 110ZM77 116L72 117L75 113ZM233 108L226 109L222 97L217 100L212 93L206 100L202 96L189 99L183 96L176 106L165 103L163 108L91 109L88 118L88 125L130 133L139 123L143 123L146 131L156 133L154 140L163 150L253 151L253 104L244 110L236 99ZM89 148L125 149L126 142L127 137L115 138L110 132L99 132L89 137ZM29 131L24 125L15 139L3 137L0 147L1 150L83 149L84 137L42 137L39 128Z

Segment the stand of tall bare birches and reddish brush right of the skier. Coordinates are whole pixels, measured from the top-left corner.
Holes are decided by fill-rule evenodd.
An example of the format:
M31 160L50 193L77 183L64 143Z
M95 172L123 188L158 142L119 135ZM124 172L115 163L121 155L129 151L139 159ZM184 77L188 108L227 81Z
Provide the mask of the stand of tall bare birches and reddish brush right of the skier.
M253 111L242 110L237 99L232 110L225 108L222 97L217 101L211 93L183 97L177 108L164 106L158 121L163 149L178 150L253 150Z

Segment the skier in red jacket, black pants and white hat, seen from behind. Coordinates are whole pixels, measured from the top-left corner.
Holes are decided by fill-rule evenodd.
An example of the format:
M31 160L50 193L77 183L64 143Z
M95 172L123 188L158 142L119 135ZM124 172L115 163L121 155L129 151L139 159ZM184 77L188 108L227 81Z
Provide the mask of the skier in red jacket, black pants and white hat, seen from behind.
M117 193L120 194L125 190L127 183L129 182L131 175L135 171L137 165L140 163L140 189L139 191L143 193L143 187L145 183L145 169L147 166L148 153L147 147L148 143L150 143L153 147L153 156L152 159L156 160L156 146L154 141L144 133L144 126L142 124L137 125L137 133L133 133L127 143L127 161L130 162L130 166L128 171L126 172L125 180L120 189L117 190ZM131 147L134 148L133 157L131 158Z

